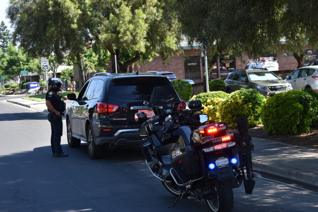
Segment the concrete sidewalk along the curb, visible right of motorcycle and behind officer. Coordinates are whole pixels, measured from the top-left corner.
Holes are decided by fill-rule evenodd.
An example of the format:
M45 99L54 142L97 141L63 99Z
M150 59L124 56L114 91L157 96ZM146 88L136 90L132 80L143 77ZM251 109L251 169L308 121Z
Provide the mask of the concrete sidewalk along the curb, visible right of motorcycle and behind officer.
M45 102L21 98L8 102L30 107L47 113ZM73 101L66 100L66 107ZM253 170L318 186L318 150L285 144L278 141L252 138L255 150L252 151Z

